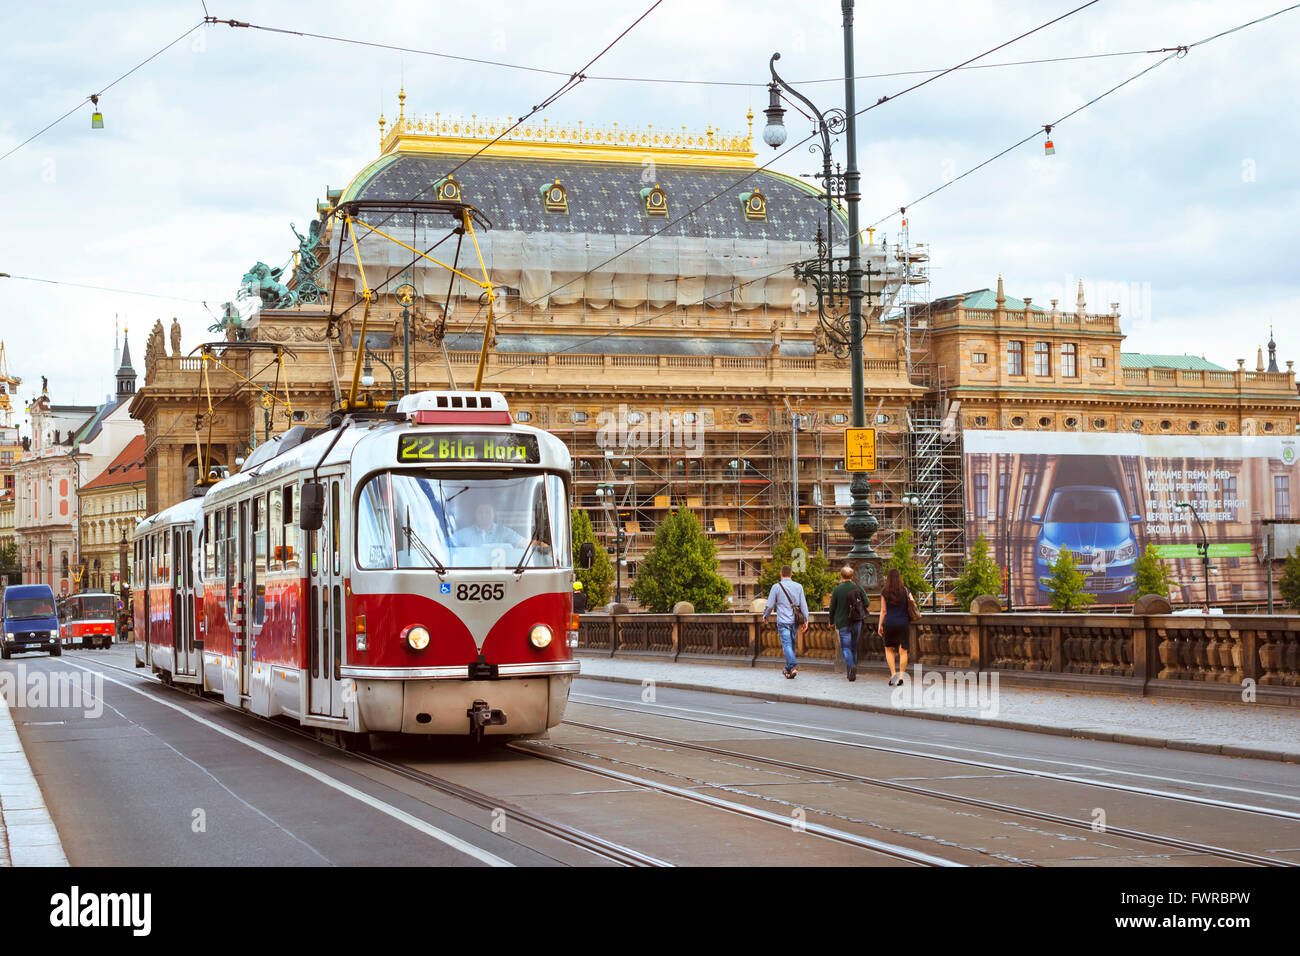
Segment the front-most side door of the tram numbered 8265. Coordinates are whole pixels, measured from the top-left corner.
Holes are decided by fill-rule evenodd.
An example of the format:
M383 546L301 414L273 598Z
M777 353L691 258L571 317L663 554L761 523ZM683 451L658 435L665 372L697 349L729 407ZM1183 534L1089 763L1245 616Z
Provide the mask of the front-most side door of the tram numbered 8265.
M347 520L338 476L325 479L325 515L313 535L311 572L312 644L308 713L343 715L343 554Z

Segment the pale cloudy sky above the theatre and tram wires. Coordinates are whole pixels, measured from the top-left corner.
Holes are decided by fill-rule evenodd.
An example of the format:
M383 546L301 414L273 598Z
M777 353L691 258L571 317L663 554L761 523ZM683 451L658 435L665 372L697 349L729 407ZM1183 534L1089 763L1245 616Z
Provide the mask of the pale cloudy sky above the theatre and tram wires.
M263 26L346 35L571 72L650 0L486 0L364 7L335 0L205 0ZM857 73L954 65L1083 0L911 0L859 4ZM1191 44L1286 0L1100 0L987 62L1127 53ZM800 17L790 18L793 9ZM363 12L363 16L359 16ZM5 4L0 8L0 155L166 43L100 101L0 160L0 272L176 299L0 278L0 339L20 394L51 381L56 402L112 390L114 316L143 363L155 319L179 317L185 347L209 338L213 311L257 260L296 246L326 187L377 153L381 108L404 82L408 113L519 116L559 83L543 73L285 34L199 26L200 0ZM1126 349L1204 354L1253 368L1277 325L1300 359L1300 10L1197 47L1043 137L909 209L932 248L935 295L992 287L1074 302L1121 302ZM842 105L840 4L664 0L552 104L552 122L742 130L766 104L767 59L820 107ZM1069 113L1162 55L967 69L887 103L859 122L862 221L902 204ZM754 83L693 86L649 77ZM859 79L861 105L922 77ZM786 116L792 139L806 121ZM770 159L767 147L760 161ZM842 148L842 144L841 144ZM775 168L811 172L797 150ZM898 217L883 226L889 241Z

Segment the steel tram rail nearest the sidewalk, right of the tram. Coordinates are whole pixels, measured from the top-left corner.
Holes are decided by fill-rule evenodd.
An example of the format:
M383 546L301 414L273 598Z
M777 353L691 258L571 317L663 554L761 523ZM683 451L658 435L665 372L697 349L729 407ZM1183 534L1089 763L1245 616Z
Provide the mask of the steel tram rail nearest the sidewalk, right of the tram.
M927 787L916 787L916 786L913 786L913 784L898 783L896 780L885 780L885 779L880 779L880 778L866 777L866 775L862 775L862 774L853 774L853 773L848 773L848 771L842 771L842 770L833 770L833 769L829 769L829 767L814 766L814 765L810 765L810 763L801 763L801 762L797 762L797 761L786 761L786 760L781 760L781 758L777 758L777 757L767 757L767 756L754 754L754 753L749 753L749 752L745 752L745 750L732 750L732 749L727 749L727 748L722 748L722 747L712 747L710 744L702 744L702 743L688 741L688 740L679 740L679 739L673 739L673 737L662 737L662 736L653 735L653 734L644 734L644 732L637 732L637 731L628 731L628 730L621 730L621 728L618 728L618 727L606 727L606 726L602 726L602 724L589 723L589 722L585 722L585 721L567 719L567 721L564 721L564 723L568 724L568 726L572 726L572 727L581 727L584 730L595 731L598 734L607 734L607 735L614 736L614 737L632 737L632 739L636 739L636 740L642 740L642 741L656 744L656 745L662 745L662 747L672 747L672 748L677 748L677 749L688 749L688 750L694 750L694 752L698 752L698 753L708 753L708 754L714 754L714 756L728 757L731 760L741 760L741 761L750 761L750 762L755 762L755 763L763 763L763 765L768 765L768 766L777 766L777 767L781 767L784 770L793 770L796 773L809 774L809 775L812 775L812 777L838 779L838 780L845 780L845 782L850 782L850 783L861 783L863 786L868 786L868 787L874 787L874 788L879 788L879 790L893 791L893 792L898 792L898 793L906 793L909 796L918 796L918 797L932 799L932 800L939 800L939 801L945 801L945 803L952 803L952 804L959 804L962 806L974 806L974 808L983 809L983 810L993 810L993 812L997 812L997 813L1006 813L1006 814L1011 814L1011 816L1017 816L1017 817L1024 817L1024 818L1028 818L1028 819L1036 819L1036 821L1040 821L1040 822L1052 823L1054 826L1070 827L1070 829L1075 829L1075 830L1087 830L1087 831L1093 831L1095 830L1093 821L1091 821L1091 819L1088 819L1088 821L1086 821L1086 819L1078 819L1078 818L1074 818L1074 817L1066 817L1063 814L1050 813L1050 812L1046 812L1046 810L1035 810L1035 809L1031 809L1031 808L1015 806L1015 805L1011 805L1011 804L1004 804L1004 803L994 801L994 800L984 800L984 799L980 799L980 797L970 797L970 796L962 796L962 795L957 795L957 793L948 793L945 791L936 791L936 790L931 790L931 788L927 788ZM588 754L588 756L598 757L599 754ZM786 821L786 823L788 823L788 821ZM1135 830L1135 829L1128 829L1128 827L1118 827L1118 826L1110 826L1110 825L1108 825L1105 832L1108 835L1112 835L1112 836L1123 836L1123 838L1127 838L1127 839L1131 839L1131 840L1138 840L1138 842L1141 842L1141 843L1148 843L1148 844L1153 844L1153 845L1158 845L1158 847L1165 847L1165 848L1169 848L1169 849L1178 849L1180 852L1187 852L1187 853L1200 853L1200 855L1205 855L1205 856L1214 856L1214 857L1219 857L1219 858L1223 858L1223 860L1231 860L1234 862L1243 862L1243 864L1248 864L1248 865L1253 865L1253 866L1283 866L1283 868L1287 868L1287 866L1300 866L1300 864L1296 864L1296 862L1292 862L1292 861L1288 861L1288 860L1279 860L1279 858L1275 858L1275 857L1260 856L1257 853L1248 853L1248 852L1244 852L1244 851L1236 851L1236 849L1231 849L1231 848L1227 848L1227 847L1217 847L1217 845L1212 845L1212 844L1197 843L1197 842L1193 842L1193 840L1183 840L1183 839L1175 838L1175 836L1167 836L1167 835L1162 835L1162 834L1152 834L1152 832L1147 832L1147 831L1143 831L1143 830Z

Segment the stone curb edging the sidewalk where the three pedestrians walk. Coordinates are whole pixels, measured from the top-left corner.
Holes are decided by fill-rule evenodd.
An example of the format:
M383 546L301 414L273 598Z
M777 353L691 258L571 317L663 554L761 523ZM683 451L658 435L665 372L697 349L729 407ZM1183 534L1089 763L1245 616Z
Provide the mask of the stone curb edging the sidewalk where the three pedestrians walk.
M598 674L580 674L588 680L604 680L611 684L644 684L645 679L602 676ZM972 723L982 727L998 727L1002 730L1020 730L1030 734L1048 734L1060 737L1080 737L1084 740L1105 740L1115 744L1132 744L1135 747L1158 747L1169 750L1191 750L1193 753L1213 753L1219 757L1249 757L1252 760L1275 760L1283 763L1300 763L1300 753L1286 750L1268 750L1258 747L1242 747L1238 744L1208 744L1199 740L1184 740L1182 737L1165 737L1158 734L1121 734L1097 727L1054 727L1019 721L1000 721L993 718L967 717L966 714L936 714L922 710L897 710L883 708L876 704L857 704L854 701L824 700L822 697L803 697L793 693L766 693L762 691L745 691L731 687L714 687L711 684L692 684L684 680L655 680L655 687L670 687L677 691L703 691L707 693L727 693L733 697L755 697L758 700L780 701L781 704L815 704L823 708L840 708L841 710L862 710L868 714L889 714L892 717L919 717L924 721L946 721L948 723Z

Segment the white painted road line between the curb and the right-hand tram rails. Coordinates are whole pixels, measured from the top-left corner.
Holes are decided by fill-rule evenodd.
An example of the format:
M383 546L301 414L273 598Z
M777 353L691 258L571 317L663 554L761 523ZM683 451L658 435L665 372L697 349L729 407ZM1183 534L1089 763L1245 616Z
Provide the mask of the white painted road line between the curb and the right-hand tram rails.
M1262 813L1262 814L1270 816L1270 817L1287 817L1287 818L1291 818L1291 819L1300 819L1300 813L1294 813L1291 810L1274 809L1274 808L1270 808L1270 806L1256 806L1253 804L1238 804L1238 803L1232 803L1230 800L1216 800L1213 797L1201 797L1201 796L1196 796L1193 793L1176 793L1176 792L1173 792L1173 791L1150 790L1148 787L1128 787L1128 786L1124 786L1122 783L1115 783L1115 782L1112 782L1112 780L1097 780L1097 779L1092 779L1092 778L1088 778L1088 777L1082 777L1082 775L1078 775L1078 774L1069 774L1069 773L1054 774L1054 773L1052 773L1049 770L1035 770L1035 769L1031 769L1031 767L1014 766L1014 765L1009 765L1009 763L988 763L988 762L978 761L978 760L965 760L962 757L945 757L941 753L927 753L924 750L911 750L911 749L902 749L902 748L897 748L897 747L880 747L880 745L874 745L874 744L859 744L859 743L855 743L853 740L838 740L838 739L835 739L835 737L819 736L819 735L815 735L815 734L796 734L790 728L812 730L812 731L819 731L819 734L842 734L842 735L846 735L846 736L867 737L867 739L871 739L871 740L893 740L893 741L897 741L897 743L909 744L911 747L940 747L940 748L942 748L945 750L958 750L958 752L962 752L962 753L984 754L984 756L989 756L989 757L1000 757L1000 758L1004 758L1004 760L1027 760L1027 761L1037 762L1037 763L1056 763L1056 765L1060 765L1060 766L1080 767L1080 769L1084 769L1084 770L1092 770L1092 771L1098 771L1098 773L1122 774L1124 777L1136 777L1139 779L1145 779L1145 780L1161 780L1164 783L1184 784L1184 786L1188 786L1188 787L1209 787L1212 790L1225 790L1225 791L1236 791L1236 792L1240 792L1240 793L1253 793L1253 795L1257 795L1257 796L1275 797L1278 800L1290 800L1290 801L1300 800L1300 797L1297 797L1297 796L1292 796L1290 793L1278 793L1275 791L1252 790L1249 787L1232 787L1232 786L1223 784L1223 783L1210 783L1208 780L1188 780L1188 779L1182 778L1182 777L1164 777L1164 775L1152 774L1152 773L1140 773L1140 771L1135 771L1135 770L1122 770L1121 767L1097 766L1097 765L1093 765L1093 763L1078 763L1078 762L1065 761L1065 760L1050 760L1048 757L1032 757L1032 756L1027 756L1027 754L1000 753L997 750L983 750L983 749L978 749L978 748L974 748L974 747L956 747L953 744L940 744L940 743L930 743L930 741L924 741L923 743L923 741L918 741L918 740L907 740L905 737L885 736L883 734L866 734L866 732L854 731L854 730L840 730L837 727L819 727L819 726L809 724L809 723L797 723L794 721L772 721L772 719L767 719L767 718L762 718L762 717L751 717L751 715L748 715L748 714L742 715L742 714L725 713L725 711L719 711L719 710L705 710L705 709L701 709L701 708L679 708L679 706L673 706L671 704L659 704L659 702L640 704L637 700L625 700L625 698L621 698L621 697L603 697L603 696L593 695L593 693L573 693L573 695L571 695L569 700L573 704L581 704L582 702L582 700L581 700L582 697L585 697L586 700L590 700L590 701L608 701L607 704L593 704L592 706L607 706L611 710L628 710L630 713L649 713L646 710L647 708L655 708L658 710L664 710L664 711L672 710L672 711L676 711L676 713L673 713L673 714L664 713L664 714L662 714L662 717L671 717L673 719L681 719L681 721L693 721L696 723L720 724L720 726L724 726L724 727L734 727L737 730L751 730L751 731L758 731L758 732L762 732L762 734L775 734L777 736L798 737L801 740L816 740L819 743L827 743L827 744L842 744L845 747L862 747L862 748L867 748L867 749L888 750L890 753L900 753L900 754L902 754L905 757L926 757L928 760L946 761L949 763L963 763L963 765L967 765L967 766L988 767L991 770L1010 771L1010 773L1015 773L1015 774L1023 774L1023 775L1027 775L1027 777L1040 777L1043 779L1049 779L1049 780L1065 780L1066 783L1080 783L1080 784L1086 784L1086 786L1089 786L1089 787L1101 787L1104 790L1115 790L1115 791L1124 791L1124 792L1130 792L1130 793L1141 793L1143 796L1165 797L1165 799L1169 799L1169 800L1178 800L1178 801L1182 801L1182 803L1204 804L1206 806L1221 806L1221 808L1228 809L1228 810L1245 810L1248 813ZM616 704L619 706L611 706L614 704ZM749 723L749 726L746 726L744 723L737 724L737 723L728 723L728 722L720 722L720 721L710 721L706 717L702 717L703 714L707 714L708 717L724 717L724 718L728 718L728 721L746 721ZM770 728L768 727L757 727L757 726L753 726L753 724L770 724Z

